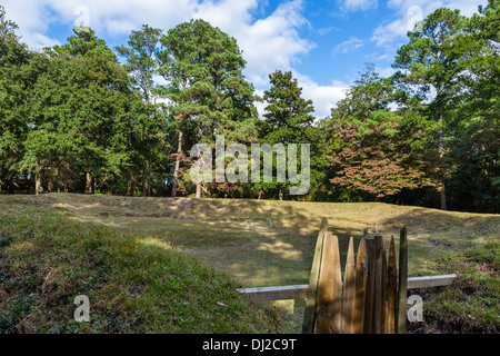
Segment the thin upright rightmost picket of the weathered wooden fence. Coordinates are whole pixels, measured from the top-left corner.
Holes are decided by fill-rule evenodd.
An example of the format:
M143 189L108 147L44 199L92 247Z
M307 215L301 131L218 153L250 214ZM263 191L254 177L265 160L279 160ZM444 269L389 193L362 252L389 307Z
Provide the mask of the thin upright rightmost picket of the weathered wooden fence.
M407 333L408 241L407 227L399 233L398 334Z

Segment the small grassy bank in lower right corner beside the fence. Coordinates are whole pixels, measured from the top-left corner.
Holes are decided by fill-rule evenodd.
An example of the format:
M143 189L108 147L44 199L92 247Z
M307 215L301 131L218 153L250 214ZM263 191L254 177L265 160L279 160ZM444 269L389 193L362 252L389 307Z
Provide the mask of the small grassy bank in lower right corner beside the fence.
M500 243L458 251L434 263L441 274L456 273L451 286L429 289L426 333L500 332Z

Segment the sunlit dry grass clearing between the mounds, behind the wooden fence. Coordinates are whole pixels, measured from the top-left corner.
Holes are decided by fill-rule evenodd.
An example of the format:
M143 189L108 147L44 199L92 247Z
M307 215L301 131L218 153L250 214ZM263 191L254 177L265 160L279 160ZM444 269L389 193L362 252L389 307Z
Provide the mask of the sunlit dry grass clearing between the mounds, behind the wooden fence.
M378 202L127 198L52 194L51 205L80 221L153 234L231 275L244 287L303 284L321 217L339 236L374 227L386 238L409 231L410 275L432 274L427 261L498 239L500 216ZM271 218L273 226L268 226ZM247 220L252 220L247 229Z

